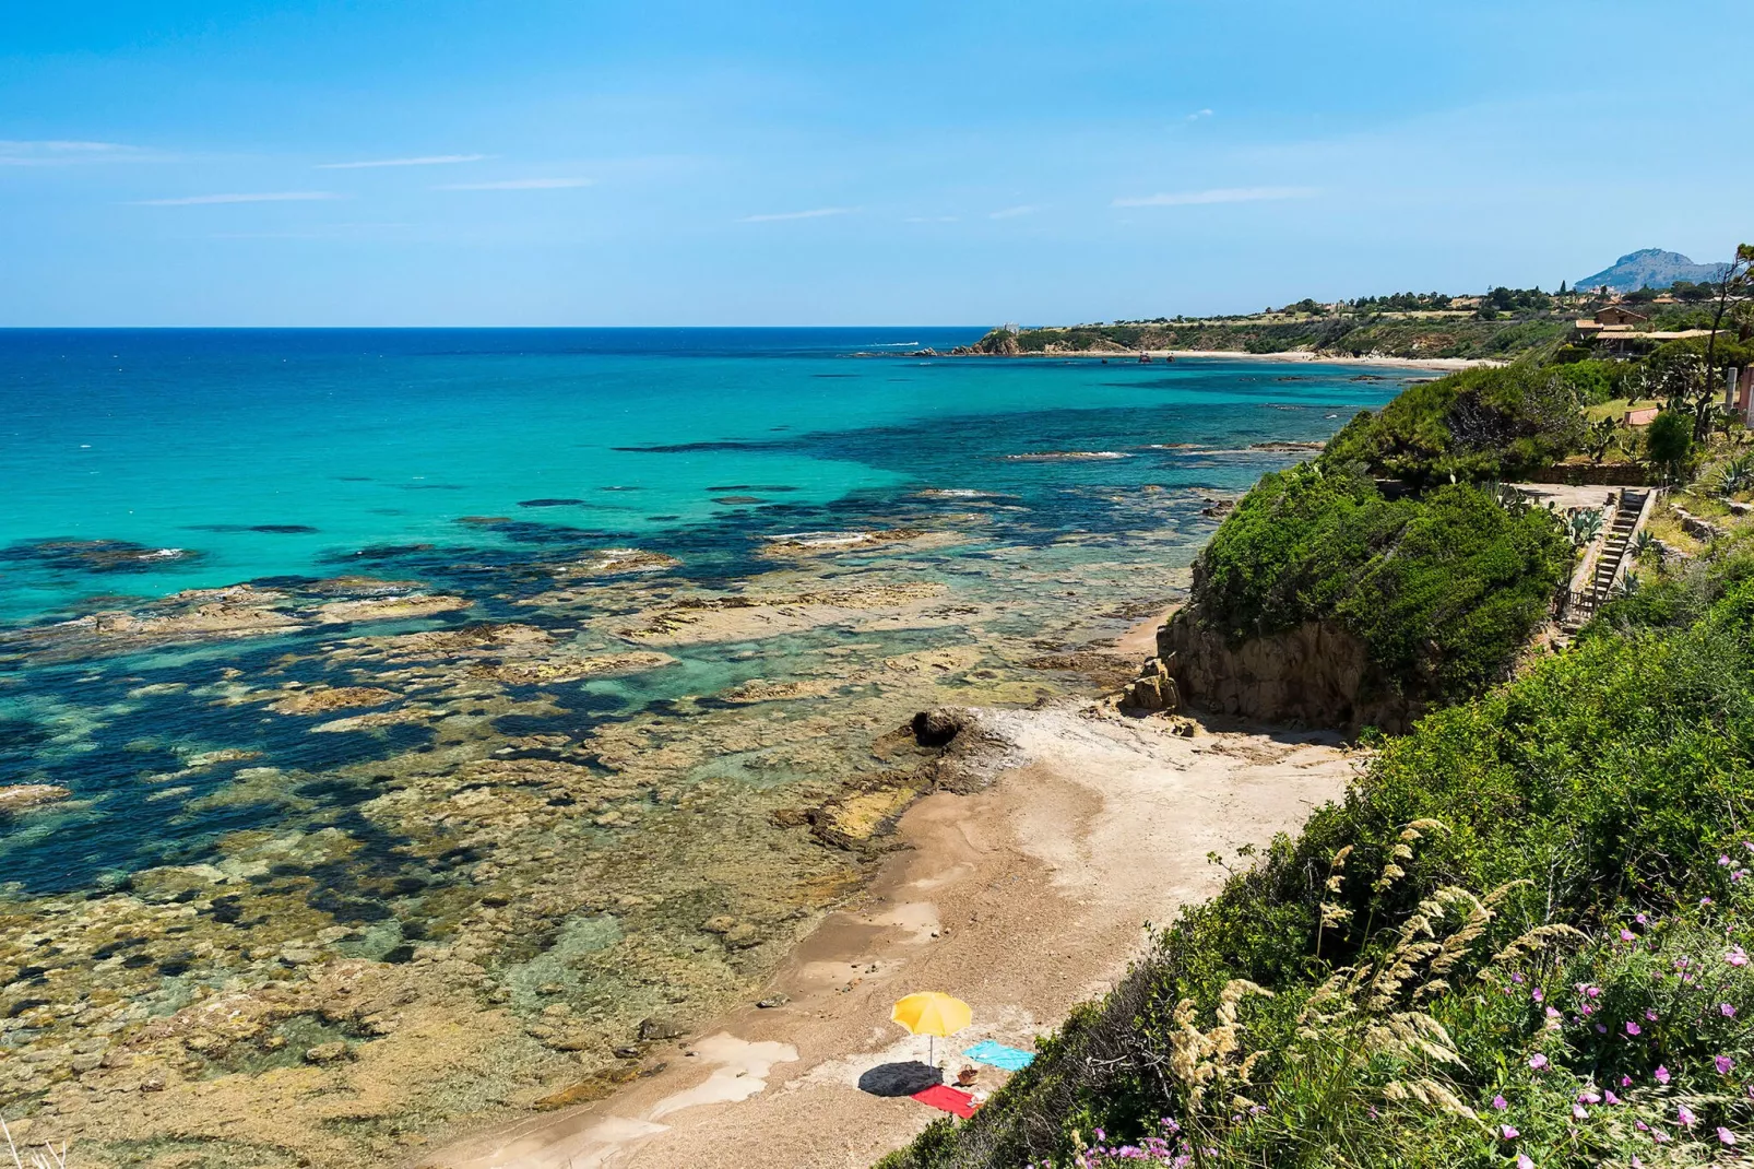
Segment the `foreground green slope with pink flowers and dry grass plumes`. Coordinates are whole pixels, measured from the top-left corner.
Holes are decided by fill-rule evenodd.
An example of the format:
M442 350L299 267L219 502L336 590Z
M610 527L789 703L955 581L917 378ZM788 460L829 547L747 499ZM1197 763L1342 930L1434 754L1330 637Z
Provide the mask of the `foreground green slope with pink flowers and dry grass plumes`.
M1754 1139L1754 555L1389 741L886 1169L1705 1164Z

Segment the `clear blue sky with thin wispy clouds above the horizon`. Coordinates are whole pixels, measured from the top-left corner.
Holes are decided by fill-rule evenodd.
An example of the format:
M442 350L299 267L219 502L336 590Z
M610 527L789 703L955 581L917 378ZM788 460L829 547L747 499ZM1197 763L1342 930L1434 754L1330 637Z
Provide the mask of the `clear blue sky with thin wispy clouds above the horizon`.
M1754 5L351 0L0 21L0 325L928 325L1754 237Z

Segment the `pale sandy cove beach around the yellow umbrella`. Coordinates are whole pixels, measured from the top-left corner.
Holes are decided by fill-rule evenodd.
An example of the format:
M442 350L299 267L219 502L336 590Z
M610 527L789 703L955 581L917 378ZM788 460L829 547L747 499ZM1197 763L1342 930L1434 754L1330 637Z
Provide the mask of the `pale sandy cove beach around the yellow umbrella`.
M903 850L830 914L747 1006L647 1053L661 1071L617 1095L428 1153L433 1169L863 1169L938 1113L859 1090L926 1057L889 1022L916 990L973 1008L979 1039L1031 1048L1144 946L1147 922L1210 897L1235 855L1337 799L1356 755L1333 735L1235 730L1186 739L1094 704L975 711L963 765L900 821ZM1002 1072L980 1067L977 1088Z

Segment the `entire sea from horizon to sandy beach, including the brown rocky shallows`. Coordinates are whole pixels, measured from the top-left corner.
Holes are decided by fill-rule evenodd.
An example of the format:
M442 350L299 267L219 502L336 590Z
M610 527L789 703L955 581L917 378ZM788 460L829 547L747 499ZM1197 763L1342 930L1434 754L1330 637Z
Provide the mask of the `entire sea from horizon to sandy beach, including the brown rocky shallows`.
M1405 377L852 356L975 335L0 333L0 783L70 793L0 814L0 1108L367 1164L588 1088L858 886L910 711L1109 685L1251 444Z

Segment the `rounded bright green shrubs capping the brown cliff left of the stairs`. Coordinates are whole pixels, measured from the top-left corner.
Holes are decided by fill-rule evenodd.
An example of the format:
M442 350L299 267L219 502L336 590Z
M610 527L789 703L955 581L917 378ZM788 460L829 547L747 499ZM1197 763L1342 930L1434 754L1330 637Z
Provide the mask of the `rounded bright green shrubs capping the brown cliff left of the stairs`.
M1200 558L1193 609L1235 644L1331 621L1380 679L1458 700L1505 678L1572 556L1549 511L1468 484L1389 500L1323 460L1249 491Z

